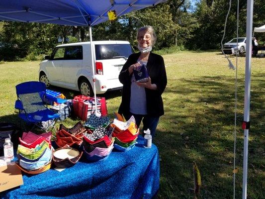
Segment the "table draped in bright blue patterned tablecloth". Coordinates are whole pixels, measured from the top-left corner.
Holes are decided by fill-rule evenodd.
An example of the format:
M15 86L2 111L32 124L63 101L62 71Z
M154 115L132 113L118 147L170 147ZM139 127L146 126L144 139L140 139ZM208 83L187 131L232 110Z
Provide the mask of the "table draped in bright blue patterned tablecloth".
M157 147L138 144L127 152L113 151L104 161L82 158L62 172L50 169L38 175L23 174L24 185L0 193L1 199L151 199L159 189Z

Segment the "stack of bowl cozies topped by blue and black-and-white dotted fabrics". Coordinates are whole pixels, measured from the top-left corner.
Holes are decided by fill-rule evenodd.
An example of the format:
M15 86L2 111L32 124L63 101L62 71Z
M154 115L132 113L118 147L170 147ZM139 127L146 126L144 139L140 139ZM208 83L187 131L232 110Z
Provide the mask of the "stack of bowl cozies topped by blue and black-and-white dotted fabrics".
M105 160L113 149L111 139L114 128L109 126L109 116L92 114L85 123L87 132L83 136L83 152L88 161Z

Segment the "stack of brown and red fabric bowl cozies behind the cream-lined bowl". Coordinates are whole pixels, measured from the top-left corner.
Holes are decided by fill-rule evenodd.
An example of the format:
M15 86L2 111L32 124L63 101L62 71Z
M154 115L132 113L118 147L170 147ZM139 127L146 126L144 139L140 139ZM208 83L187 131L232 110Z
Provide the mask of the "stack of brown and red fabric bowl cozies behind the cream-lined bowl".
M79 149L83 142L82 137L85 131L86 128L84 128L81 122L78 122L72 128L67 128L63 124L60 124L59 130L56 133L57 139L55 143L59 148L67 145Z

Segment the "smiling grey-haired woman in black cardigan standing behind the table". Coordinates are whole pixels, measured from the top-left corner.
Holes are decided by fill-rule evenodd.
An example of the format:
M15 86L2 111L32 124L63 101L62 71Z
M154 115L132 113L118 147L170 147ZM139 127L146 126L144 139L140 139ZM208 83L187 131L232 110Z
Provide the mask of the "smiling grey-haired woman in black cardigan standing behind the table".
M159 117L164 114L162 93L167 86L167 74L162 56L151 52L157 39L151 26L138 29L137 42L139 53L131 54L124 64L119 81L123 84L119 113L128 120L132 115L139 127L143 120L143 130L148 128L155 136ZM135 81L133 69L144 65L149 74L148 81Z

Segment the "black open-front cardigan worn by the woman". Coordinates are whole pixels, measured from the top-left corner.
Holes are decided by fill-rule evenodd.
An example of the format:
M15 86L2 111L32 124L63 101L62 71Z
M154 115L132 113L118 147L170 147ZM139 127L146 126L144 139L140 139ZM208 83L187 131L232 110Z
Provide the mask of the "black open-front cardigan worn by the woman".
M131 77L128 68L137 63L140 53L131 54L119 74L119 81L123 84L121 104L118 112L128 114L130 111ZM150 116L161 116L164 114L162 93L167 86L167 74L162 56L150 53L147 62L147 71L152 84L157 85L157 90L145 88L147 114Z

